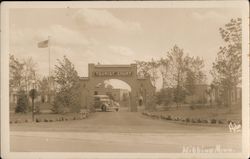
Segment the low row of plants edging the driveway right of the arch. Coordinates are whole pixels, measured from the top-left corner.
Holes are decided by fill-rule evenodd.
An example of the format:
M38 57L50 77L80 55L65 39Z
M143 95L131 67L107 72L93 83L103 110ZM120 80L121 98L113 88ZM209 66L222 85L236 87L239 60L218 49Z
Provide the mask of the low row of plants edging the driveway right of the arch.
M151 112L143 112L145 116L151 117L153 119L163 119L169 121L179 121L184 123L203 123L203 124L229 124L231 120L219 120L219 119L200 119L200 118L182 118L175 117L171 115L158 115ZM241 124L241 121L237 121Z

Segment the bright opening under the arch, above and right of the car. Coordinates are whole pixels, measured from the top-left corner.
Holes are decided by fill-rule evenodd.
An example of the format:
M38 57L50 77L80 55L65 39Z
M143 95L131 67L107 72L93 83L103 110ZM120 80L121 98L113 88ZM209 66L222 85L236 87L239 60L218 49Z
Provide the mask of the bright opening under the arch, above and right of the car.
M107 95L114 102L119 103L120 110L130 110L131 87L118 79L108 79L95 86L94 95Z

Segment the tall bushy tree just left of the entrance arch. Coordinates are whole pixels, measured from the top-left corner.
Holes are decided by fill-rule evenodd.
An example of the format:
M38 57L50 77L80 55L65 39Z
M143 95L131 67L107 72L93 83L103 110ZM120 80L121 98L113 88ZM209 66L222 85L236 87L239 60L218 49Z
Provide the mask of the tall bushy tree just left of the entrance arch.
M55 113L79 112L81 107L78 73L66 56L63 57L62 61L57 61L58 65L55 65L55 82L58 87L52 111Z

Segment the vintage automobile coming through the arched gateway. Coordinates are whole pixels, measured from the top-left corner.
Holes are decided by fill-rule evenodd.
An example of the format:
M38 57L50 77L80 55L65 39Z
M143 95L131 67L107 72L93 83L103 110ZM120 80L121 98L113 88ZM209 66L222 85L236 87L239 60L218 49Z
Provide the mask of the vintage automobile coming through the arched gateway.
M101 110L103 112L106 111L118 111L119 104L114 102L107 95L94 95L94 108L95 110Z

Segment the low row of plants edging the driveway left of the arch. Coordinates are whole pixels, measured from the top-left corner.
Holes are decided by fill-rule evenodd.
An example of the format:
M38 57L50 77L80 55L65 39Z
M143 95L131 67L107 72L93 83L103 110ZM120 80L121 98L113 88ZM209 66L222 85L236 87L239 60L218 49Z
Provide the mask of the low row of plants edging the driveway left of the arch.
M82 114L79 114L79 116L73 116L73 117L56 117L56 118L36 118L35 122L36 123L40 123L40 122L61 122L61 121L69 121L69 120L83 120L88 118L90 115L90 112L85 112ZM17 124L17 123L29 123L32 122L32 120L21 120L21 119L17 119L15 121L10 121L10 124Z

